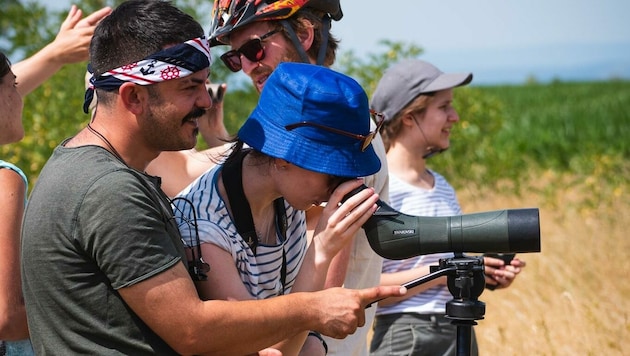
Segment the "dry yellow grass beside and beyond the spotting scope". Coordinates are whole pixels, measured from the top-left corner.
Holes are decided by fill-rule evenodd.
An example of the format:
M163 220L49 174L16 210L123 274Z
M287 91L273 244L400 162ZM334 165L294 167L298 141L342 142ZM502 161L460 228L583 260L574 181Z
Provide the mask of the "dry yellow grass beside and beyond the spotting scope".
M602 190L589 179L567 184L566 178L543 175L536 181L520 197L458 193L466 212L540 209L542 252L520 256L527 267L510 288L485 291L479 298L486 303L485 319L475 327L480 351L629 355L627 182Z

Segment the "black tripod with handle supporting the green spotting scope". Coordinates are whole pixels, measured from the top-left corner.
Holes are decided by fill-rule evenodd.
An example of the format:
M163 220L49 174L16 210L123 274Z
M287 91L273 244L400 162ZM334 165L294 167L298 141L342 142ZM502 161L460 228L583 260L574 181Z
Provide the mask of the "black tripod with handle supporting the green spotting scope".
M431 266L431 273L416 278L404 286L413 288L423 283L446 276L448 290L453 299L446 303L446 317L457 325L457 355L468 356L472 344L472 327L475 320L483 319L486 304L477 300L485 287L482 256L464 256L440 259L438 266Z

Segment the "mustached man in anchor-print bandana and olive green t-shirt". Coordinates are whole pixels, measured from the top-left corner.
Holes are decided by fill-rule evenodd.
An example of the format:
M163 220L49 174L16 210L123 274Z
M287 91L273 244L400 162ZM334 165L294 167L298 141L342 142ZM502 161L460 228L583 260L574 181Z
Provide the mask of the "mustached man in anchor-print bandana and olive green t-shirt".
M201 301L193 279L207 264L189 260L159 179L143 172L160 151L195 145L211 105L203 29L169 2L127 1L97 26L90 59L94 117L55 149L23 221L36 354L255 353L306 330L345 337L369 303L405 292Z

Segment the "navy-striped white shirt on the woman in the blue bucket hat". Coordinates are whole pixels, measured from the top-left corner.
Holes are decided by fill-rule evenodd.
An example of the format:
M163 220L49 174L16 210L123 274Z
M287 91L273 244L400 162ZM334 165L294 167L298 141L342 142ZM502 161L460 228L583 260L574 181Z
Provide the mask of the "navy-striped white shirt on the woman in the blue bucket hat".
M193 211L196 213L197 228L201 243L211 243L232 255L241 281L256 299L265 299L282 294L281 268L283 249L286 253L286 285L285 293L291 286L300 270L306 254L306 220L304 211L296 210L285 202L287 215L286 240L283 241L276 226L276 243L273 245L258 244L256 255L238 234L234 221L230 216L223 198L219 195L217 176L222 165L205 172L174 199L174 214L177 219L182 239L187 246L194 245L195 232ZM192 203L189 204L185 198ZM212 268L212 261L206 261ZM218 288L219 286L217 286Z

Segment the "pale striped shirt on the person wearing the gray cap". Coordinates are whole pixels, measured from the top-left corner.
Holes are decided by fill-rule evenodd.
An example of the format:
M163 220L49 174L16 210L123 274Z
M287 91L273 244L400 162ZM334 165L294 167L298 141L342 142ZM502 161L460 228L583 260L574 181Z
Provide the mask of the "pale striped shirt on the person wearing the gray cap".
M410 185L393 174L389 176L390 205L405 214L415 216L461 215L455 190L440 174L430 171L435 178L433 189L427 190ZM415 256L404 260L383 260L383 273L405 271L423 266L438 265L441 258L453 257L452 253L436 253ZM436 286L400 303L379 306L377 315L393 313L444 314L446 302L453 299L445 285Z

